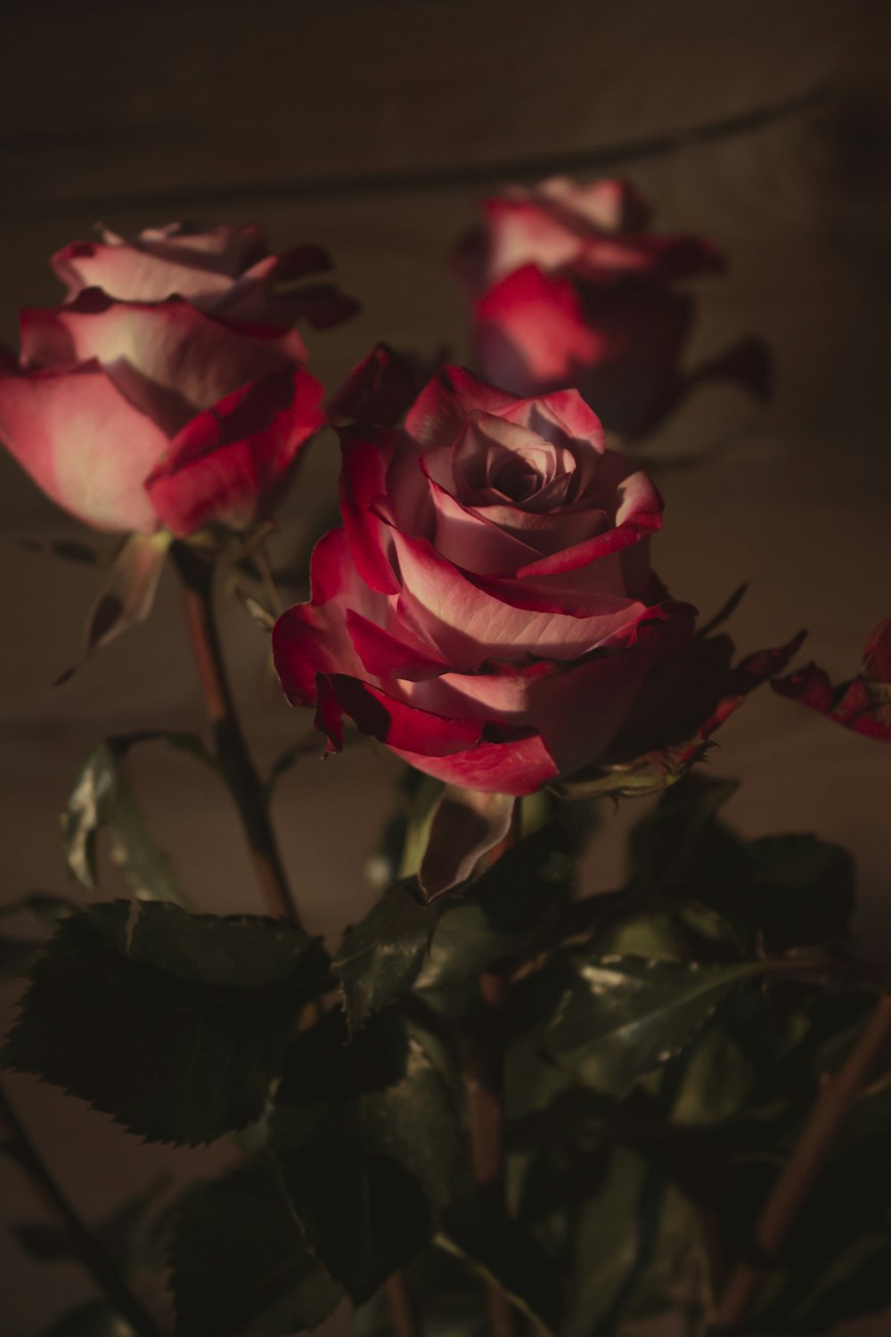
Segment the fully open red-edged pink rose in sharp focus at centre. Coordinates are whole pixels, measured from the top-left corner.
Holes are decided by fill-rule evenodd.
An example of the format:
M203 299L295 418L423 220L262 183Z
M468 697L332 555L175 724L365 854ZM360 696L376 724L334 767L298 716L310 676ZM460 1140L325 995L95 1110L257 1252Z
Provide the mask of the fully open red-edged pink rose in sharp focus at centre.
M691 634L649 570L661 499L574 390L446 369L403 432L343 433L341 503L273 636L335 749L346 714L431 775L530 793L614 746Z

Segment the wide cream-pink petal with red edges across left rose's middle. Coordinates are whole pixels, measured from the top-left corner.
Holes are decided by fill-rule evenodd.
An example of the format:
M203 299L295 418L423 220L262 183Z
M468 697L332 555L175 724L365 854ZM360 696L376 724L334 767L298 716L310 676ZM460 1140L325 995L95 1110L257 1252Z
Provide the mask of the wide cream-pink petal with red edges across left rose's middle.
M295 330L230 325L179 298L124 303L88 289L71 306L23 312L21 356L32 366L98 358L172 436L238 386L301 365L306 349Z

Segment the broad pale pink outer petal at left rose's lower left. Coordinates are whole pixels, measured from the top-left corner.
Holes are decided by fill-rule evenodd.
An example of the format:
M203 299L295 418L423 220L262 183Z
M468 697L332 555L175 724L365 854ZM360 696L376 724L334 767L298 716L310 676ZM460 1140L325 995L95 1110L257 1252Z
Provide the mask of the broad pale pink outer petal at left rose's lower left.
M99 362L0 376L0 439L79 520L98 529L156 528L143 481L167 437Z

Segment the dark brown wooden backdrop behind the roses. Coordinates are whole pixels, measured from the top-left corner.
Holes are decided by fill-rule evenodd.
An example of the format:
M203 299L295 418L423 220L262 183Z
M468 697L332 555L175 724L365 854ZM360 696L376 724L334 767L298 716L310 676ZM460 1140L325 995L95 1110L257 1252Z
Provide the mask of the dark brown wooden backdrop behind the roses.
M363 312L307 334L329 389L375 340L466 356L446 255L510 164L633 144L818 91L747 134L613 162L659 230L711 235L724 278L696 285L691 362L747 333L777 361L755 409L701 389L648 445L667 497L655 564L704 614L737 584L743 651L799 627L834 678L851 677L891 610L891 7L887 0L155 0L17 5L0 83L0 338L24 305L61 290L47 259L102 221L122 233L192 218L262 221L274 249L326 246ZM489 182L468 183L473 170ZM441 179L433 179L441 172ZM582 179L593 171L580 172ZM413 179L415 178L415 179ZM696 465L664 461L724 441ZM660 464L660 461L663 461ZM337 447L311 451L275 539L293 566L333 516ZM0 452L0 897L71 893L59 813L79 762L111 733L199 727L178 590L151 622L63 687L98 571L25 548L83 537ZM306 737L274 685L267 642L234 600L228 655L263 765ZM891 957L891 755L768 691L721 731L712 767L743 786L729 817L751 834L816 829L851 848L859 928ZM195 901L258 910L227 796L190 758L146 749L135 783ZM282 781L275 820L305 919L337 933L375 892L366 876L391 804L391 762L362 745ZM633 804L606 817L586 889L621 874ZM103 873L102 894L123 888ZM3 992L4 1028L16 989ZM53 1171L100 1215L159 1170L210 1171L226 1152L142 1147L104 1116L9 1082ZM4 1223L40 1217L0 1167ZM37 1337L90 1296L73 1267L41 1269L4 1233L0 1333ZM887 1332L880 1326L875 1332ZM858 1329L860 1332L862 1329ZM854 1332L847 1328L846 1332Z

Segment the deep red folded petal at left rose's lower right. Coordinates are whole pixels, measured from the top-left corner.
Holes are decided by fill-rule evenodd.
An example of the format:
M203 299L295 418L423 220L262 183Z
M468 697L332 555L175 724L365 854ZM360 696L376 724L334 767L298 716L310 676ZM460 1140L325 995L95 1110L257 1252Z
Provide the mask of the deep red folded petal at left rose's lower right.
M199 413L146 481L162 521L184 537L211 523L246 528L270 511L325 422L321 400L307 372L274 372Z

